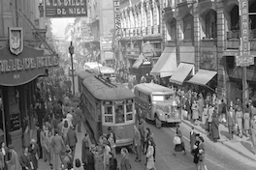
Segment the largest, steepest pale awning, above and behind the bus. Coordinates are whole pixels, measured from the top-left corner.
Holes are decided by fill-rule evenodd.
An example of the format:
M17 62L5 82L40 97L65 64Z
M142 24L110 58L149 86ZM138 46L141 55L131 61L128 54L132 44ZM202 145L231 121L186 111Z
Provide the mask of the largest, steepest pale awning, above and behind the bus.
M151 75L160 75L167 77L173 75L176 71L176 47L166 47L161 54L153 69Z

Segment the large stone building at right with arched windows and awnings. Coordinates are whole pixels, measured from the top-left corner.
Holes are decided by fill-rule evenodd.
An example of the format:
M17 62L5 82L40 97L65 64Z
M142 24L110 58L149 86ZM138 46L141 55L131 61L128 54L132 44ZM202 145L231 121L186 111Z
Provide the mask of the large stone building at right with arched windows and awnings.
M249 0L249 13L255 13L256 2ZM165 0L166 46L172 48L177 68L170 81L182 84L185 79L198 87L210 87L219 96L241 99L242 70L240 56L239 1ZM256 16L250 15L250 53L255 52ZM175 61L174 61L175 63ZM193 72L193 68L195 74ZM248 96L255 90L254 66L247 69Z

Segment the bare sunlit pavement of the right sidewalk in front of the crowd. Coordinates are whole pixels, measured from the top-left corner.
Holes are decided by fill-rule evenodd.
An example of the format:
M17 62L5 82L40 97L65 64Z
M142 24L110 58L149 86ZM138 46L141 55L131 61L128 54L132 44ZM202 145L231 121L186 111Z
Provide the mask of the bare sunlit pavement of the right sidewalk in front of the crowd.
M182 111L182 113L184 113ZM205 129L205 119L199 122L198 125L194 125L191 121L186 120L185 115L182 115L182 123L189 127L194 127L198 132L203 133L208 136L208 131ZM232 140L229 139L228 128L223 124L219 124L219 137L218 143L223 144L227 148L237 152L240 156L244 156L250 160L255 161L256 156L253 154L252 142L250 137L242 136L240 138L238 135L234 135Z

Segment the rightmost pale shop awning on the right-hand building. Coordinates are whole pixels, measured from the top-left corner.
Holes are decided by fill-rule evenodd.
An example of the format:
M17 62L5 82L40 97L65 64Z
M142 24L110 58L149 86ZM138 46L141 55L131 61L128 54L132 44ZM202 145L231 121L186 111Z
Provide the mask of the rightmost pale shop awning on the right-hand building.
M199 70L188 82L205 86L216 73L217 71Z

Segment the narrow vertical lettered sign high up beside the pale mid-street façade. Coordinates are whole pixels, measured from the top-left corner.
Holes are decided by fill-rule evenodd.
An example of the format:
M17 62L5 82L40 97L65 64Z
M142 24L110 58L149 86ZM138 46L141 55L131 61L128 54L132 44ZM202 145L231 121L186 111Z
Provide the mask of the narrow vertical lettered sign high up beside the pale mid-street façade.
M120 0L113 0L113 19L114 19L114 38L115 40L119 40L122 37Z

